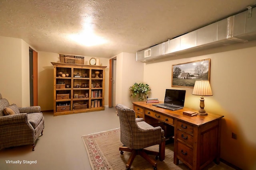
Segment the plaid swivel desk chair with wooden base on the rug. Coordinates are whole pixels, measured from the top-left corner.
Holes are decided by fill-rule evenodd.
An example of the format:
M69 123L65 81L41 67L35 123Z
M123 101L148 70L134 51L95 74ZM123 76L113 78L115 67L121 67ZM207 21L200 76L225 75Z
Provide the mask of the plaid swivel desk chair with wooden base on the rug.
M159 156L161 161L164 160L165 137L162 128L159 126L152 127L143 121L143 118L135 118L134 110L121 104L116 106L116 111L120 120L120 140L124 144L119 147L120 153L123 154L124 151L132 152L126 164L126 170L130 170L137 154L150 162L156 170L156 160L148 154L155 155L156 159ZM159 145L159 152L144 149L153 145Z

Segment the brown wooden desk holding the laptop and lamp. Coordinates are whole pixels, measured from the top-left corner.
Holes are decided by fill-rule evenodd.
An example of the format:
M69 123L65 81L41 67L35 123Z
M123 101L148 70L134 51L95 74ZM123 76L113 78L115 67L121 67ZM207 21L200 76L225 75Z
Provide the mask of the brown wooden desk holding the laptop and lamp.
M160 102L161 103L161 102ZM174 126L174 164L179 160L192 170L200 170L215 160L220 163L220 125L223 115L183 115L183 108L172 111L152 106L152 103L133 102L137 117L149 124L164 122Z

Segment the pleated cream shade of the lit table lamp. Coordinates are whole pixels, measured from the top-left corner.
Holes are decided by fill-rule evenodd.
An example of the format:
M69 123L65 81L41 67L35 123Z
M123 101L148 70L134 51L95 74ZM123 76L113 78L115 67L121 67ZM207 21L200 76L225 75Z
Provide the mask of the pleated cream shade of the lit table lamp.
M212 88L208 80L197 80L192 92L194 95L212 96Z

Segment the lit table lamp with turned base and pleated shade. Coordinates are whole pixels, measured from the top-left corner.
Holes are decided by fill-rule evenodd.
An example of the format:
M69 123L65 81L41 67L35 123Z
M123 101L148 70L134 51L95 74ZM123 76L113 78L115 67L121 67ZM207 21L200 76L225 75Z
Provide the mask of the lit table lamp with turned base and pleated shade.
M210 82L208 80L197 80L194 85L193 93L194 95L200 95L200 109L198 115L207 115L204 110L204 97L203 96L212 96L212 89Z

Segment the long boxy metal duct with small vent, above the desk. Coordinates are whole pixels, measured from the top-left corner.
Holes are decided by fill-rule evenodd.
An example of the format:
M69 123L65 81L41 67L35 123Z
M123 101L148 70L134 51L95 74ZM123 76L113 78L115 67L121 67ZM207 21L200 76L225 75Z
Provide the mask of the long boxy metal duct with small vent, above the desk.
M137 61L147 62L222 45L256 39L256 8L230 16L190 33L136 53Z

